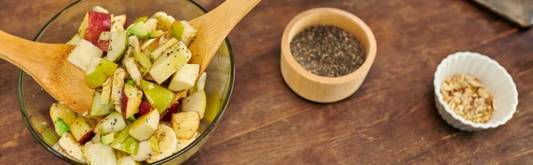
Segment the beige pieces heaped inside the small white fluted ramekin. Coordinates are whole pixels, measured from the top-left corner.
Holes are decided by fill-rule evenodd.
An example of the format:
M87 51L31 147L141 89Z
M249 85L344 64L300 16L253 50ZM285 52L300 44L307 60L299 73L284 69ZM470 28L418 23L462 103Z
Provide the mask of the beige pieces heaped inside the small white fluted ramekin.
M465 120L484 123L494 112L493 98L480 81L469 75L446 78L441 86L442 99Z

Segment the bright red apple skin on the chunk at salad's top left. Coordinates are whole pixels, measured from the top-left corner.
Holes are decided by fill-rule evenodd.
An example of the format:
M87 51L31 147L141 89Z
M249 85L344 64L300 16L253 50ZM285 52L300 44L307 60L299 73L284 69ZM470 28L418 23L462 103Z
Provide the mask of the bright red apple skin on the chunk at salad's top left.
M111 29L111 15L102 12L89 11L88 26L84 39L91 43L98 43L100 33Z

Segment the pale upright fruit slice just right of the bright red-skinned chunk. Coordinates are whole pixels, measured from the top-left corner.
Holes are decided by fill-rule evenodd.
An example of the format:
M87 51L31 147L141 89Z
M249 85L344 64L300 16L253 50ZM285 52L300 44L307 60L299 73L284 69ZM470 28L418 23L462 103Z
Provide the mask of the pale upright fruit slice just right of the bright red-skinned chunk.
M122 58L128 46L128 33L126 31L111 32L107 60L116 62Z

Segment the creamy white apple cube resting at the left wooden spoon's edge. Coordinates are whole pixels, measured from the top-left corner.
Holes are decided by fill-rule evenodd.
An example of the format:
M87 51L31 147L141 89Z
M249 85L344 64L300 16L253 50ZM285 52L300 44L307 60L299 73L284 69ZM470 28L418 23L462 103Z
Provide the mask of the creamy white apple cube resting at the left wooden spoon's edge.
M100 50L99 47L82 39L68 55L68 62L85 72L91 63L91 59L93 57L102 57L103 53L104 51Z

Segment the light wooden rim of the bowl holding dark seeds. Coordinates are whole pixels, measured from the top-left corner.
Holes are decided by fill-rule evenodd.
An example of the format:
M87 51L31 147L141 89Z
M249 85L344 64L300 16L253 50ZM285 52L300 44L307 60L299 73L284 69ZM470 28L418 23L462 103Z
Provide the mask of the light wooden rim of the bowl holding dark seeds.
M362 66L357 68L354 72L338 76L338 77L327 77L327 76L321 76L321 75L314 75L313 73L306 70L306 68L302 67L296 59L292 56L292 52L290 52L290 41L293 38L290 38L290 33L292 33L292 30L297 26L298 22L309 18L309 17L316 17L319 16L322 13L331 13L335 14L338 17L344 17L350 21L352 21L355 25L362 28L364 31L364 34L367 35L364 40L369 41L369 50L365 50L365 61L362 63ZM320 24L317 24L320 25ZM333 25L334 26L334 25ZM337 26L336 26L337 27ZM345 29L346 30L346 29ZM362 38L357 38L358 40L362 40ZM287 60L287 64L289 64L289 67L292 67L296 72L298 72L299 75L302 75L308 80L322 83L322 84L341 84L341 83L348 83L350 81L353 81L354 79L364 77L367 75L368 70L370 70L370 67L374 63L374 59L376 59L376 53L378 51L378 43L376 42L376 36L370 29L370 27L359 17L355 16L351 12L346 12L344 10L338 9L338 8L332 8L332 7L319 7L307 10L305 12L299 13L296 17L294 17L292 20L290 20L289 24L285 29L283 30L282 35L282 58Z

